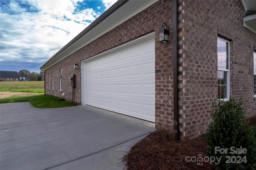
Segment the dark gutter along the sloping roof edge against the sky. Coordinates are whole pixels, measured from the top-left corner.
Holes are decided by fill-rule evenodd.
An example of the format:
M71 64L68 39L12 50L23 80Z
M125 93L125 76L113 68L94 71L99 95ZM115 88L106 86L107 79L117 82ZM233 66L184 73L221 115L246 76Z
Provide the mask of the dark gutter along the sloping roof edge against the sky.
M121 6L123 6L126 2L128 2L129 0L118 0L115 4L113 4L112 6L110 6L110 8L108 8L108 10L106 10L101 16L99 16L96 20L94 20L88 27L86 27L81 33L79 33L76 37L74 37L74 39L72 39L68 44L66 44L62 49L60 49L60 51L58 51L54 56L52 56L52 58L50 58L46 63L44 63L44 65L42 65L40 67L43 68L44 66L46 66L48 63L50 63L52 60L54 60L58 55L60 55L61 53L63 53L66 49L68 49L68 47L70 47L70 45L72 45L74 42L76 42L78 39L80 39L81 37L83 37L86 33L88 33L89 31L91 31L94 27L96 27L99 23L101 23L103 20L105 20L106 18L108 18L108 16L110 16L111 14L113 14L116 10L118 10Z

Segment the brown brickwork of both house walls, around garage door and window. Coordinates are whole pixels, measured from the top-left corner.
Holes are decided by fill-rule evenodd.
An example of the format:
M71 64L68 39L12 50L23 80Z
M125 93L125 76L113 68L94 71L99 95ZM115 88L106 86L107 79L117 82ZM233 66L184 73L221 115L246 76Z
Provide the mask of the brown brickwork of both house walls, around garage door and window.
M243 27L244 9L240 0L179 0L179 117L180 139L206 132L211 121L212 102L217 100L217 37L231 39L230 93L243 98L248 116L256 110L253 97L253 50L256 35ZM168 43L158 42L162 23L170 27ZM155 32L156 128L173 129L173 44L172 1L160 0L97 40L46 70L46 94L72 100L70 74L76 74L74 101L81 104L81 66L75 63L118 45ZM59 90L62 69L62 91ZM52 72L54 90L52 91ZM48 90L48 74L50 90ZM65 96L61 96L65 93ZM254 112L253 112L254 111Z

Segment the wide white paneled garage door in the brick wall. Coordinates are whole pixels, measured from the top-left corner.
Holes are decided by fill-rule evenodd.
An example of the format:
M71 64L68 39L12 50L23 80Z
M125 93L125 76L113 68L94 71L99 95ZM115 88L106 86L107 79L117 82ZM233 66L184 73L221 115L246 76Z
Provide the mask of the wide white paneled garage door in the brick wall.
M85 104L155 122L154 37L84 62Z

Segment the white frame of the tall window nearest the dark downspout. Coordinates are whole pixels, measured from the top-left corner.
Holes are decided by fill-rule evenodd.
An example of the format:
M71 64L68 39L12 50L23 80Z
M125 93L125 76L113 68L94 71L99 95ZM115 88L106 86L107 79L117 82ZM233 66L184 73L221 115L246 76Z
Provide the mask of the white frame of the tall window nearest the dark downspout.
M228 60L226 62L228 62L228 69L224 69L224 68L219 68L218 67L218 71L222 71L222 72L226 72L227 75L226 75L226 84L227 84L227 87L226 87L226 93L227 93L227 96L226 98L220 98L220 100L224 100L224 101L228 101L229 100L229 97L230 97L230 41L228 41L227 39L224 39L222 37L218 37L218 39L220 39L221 41L225 41L226 43L228 43ZM217 39L217 41L218 41ZM217 42L217 57L218 57L218 42ZM218 63L217 63L218 64ZM220 86L221 84L218 84L218 86ZM218 96L219 98L220 96Z

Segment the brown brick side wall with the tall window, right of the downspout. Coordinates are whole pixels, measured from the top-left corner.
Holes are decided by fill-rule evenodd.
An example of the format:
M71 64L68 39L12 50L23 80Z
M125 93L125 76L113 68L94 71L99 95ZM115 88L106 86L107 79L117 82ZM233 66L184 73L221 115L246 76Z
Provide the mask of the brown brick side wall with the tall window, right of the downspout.
M181 138L206 132L217 100L217 37L230 41L230 95L242 97L255 114L253 50L256 34L243 26L240 0L184 0L179 3L179 105Z

